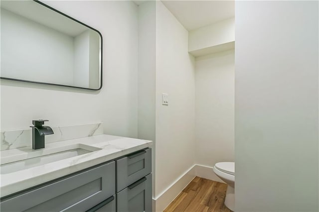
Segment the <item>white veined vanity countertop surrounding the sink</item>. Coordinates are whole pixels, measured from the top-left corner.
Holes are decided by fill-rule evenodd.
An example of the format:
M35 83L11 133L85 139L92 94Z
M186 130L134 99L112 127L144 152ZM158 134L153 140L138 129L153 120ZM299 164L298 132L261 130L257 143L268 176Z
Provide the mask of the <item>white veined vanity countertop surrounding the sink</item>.
M32 147L23 147L1 151L1 164L6 163L8 157L25 158L30 152L38 152L41 156L43 151L61 148L72 144L85 144L101 148L87 154L58 160L45 165L32 167L8 174L0 175L0 196L4 197L18 191L45 183L56 178L89 168L91 166L113 160L115 158L130 154L152 146L152 141L135 138L119 137L113 135L96 135L85 138L65 140L45 144L44 149L33 150Z

